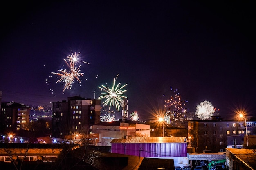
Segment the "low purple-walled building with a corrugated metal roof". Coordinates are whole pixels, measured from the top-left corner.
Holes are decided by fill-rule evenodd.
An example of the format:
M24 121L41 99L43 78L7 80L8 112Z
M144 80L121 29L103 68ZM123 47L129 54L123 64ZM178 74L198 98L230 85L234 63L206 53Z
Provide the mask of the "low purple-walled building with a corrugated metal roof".
M169 158L175 166L189 165L186 137L129 137L113 139L111 152L151 158Z

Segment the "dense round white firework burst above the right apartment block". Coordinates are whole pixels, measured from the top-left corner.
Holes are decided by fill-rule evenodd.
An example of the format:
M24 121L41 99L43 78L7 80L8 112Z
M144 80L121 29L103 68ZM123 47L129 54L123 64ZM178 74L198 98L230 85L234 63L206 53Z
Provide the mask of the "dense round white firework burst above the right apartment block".
M213 105L211 105L211 102L206 100L200 102L200 104L196 106L196 109L197 110L195 111L195 115L201 120L209 120L215 112L215 109Z

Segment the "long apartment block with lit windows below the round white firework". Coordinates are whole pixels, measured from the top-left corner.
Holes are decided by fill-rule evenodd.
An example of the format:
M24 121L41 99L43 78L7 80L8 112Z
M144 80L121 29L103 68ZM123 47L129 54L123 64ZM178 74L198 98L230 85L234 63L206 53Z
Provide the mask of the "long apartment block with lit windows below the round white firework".
M255 134L256 122L247 121L246 124L247 134ZM203 150L223 152L227 147L227 136L239 135L244 140L245 129L243 120L191 120L188 122L188 139L196 153Z

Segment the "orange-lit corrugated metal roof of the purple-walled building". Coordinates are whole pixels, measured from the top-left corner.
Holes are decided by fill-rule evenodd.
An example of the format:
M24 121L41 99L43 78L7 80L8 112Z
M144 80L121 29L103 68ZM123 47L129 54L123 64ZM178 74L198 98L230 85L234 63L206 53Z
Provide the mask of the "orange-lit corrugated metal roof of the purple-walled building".
M110 143L186 143L186 137L129 137L113 139Z

